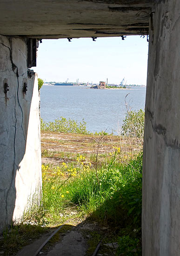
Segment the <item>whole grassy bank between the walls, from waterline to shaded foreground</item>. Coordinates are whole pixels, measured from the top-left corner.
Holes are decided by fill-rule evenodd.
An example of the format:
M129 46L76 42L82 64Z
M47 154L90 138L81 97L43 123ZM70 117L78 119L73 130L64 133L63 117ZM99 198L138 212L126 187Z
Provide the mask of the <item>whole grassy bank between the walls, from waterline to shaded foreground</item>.
M127 123L128 133L129 127ZM79 128L68 134L56 128L41 131L40 207L34 205L20 225L5 230L0 240L5 256L16 255L23 245L67 219L97 222L108 229L119 243L117 255L141 255L142 138L89 134L84 128L82 134ZM101 236L91 235L94 240Z

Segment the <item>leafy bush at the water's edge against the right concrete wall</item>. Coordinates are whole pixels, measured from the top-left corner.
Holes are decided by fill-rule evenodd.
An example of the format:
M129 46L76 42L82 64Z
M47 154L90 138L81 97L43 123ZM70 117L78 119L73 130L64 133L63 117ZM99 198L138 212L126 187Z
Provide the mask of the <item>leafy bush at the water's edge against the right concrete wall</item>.
M138 111L127 111L126 117L123 120L121 135L143 138L144 117L145 112L142 109Z

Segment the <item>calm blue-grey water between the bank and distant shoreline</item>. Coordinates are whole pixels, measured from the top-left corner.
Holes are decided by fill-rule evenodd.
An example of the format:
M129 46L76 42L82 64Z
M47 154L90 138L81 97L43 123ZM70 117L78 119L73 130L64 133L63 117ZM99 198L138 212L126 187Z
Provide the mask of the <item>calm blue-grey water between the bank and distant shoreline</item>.
M87 130L115 133L126 115L125 96L133 110L145 108L146 88L100 90L73 86L44 86L40 89L41 118L54 121L60 116L84 119Z

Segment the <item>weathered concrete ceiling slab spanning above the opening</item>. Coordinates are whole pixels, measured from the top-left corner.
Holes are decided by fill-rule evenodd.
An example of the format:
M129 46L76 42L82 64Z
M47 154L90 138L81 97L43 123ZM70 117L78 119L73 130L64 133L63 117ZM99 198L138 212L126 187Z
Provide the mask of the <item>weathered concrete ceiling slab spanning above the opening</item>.
M154 0L1 0L0 34L35 38L147 34Z

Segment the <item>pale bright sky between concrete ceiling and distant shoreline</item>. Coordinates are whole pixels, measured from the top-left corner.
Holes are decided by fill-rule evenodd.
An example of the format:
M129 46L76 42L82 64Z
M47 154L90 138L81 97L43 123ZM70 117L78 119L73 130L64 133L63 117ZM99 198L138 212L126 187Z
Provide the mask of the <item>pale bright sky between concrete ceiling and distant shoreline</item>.
M107 81L120 84L147 82L147 38L140 36L42 40L37 67L33 70L46 82Z

